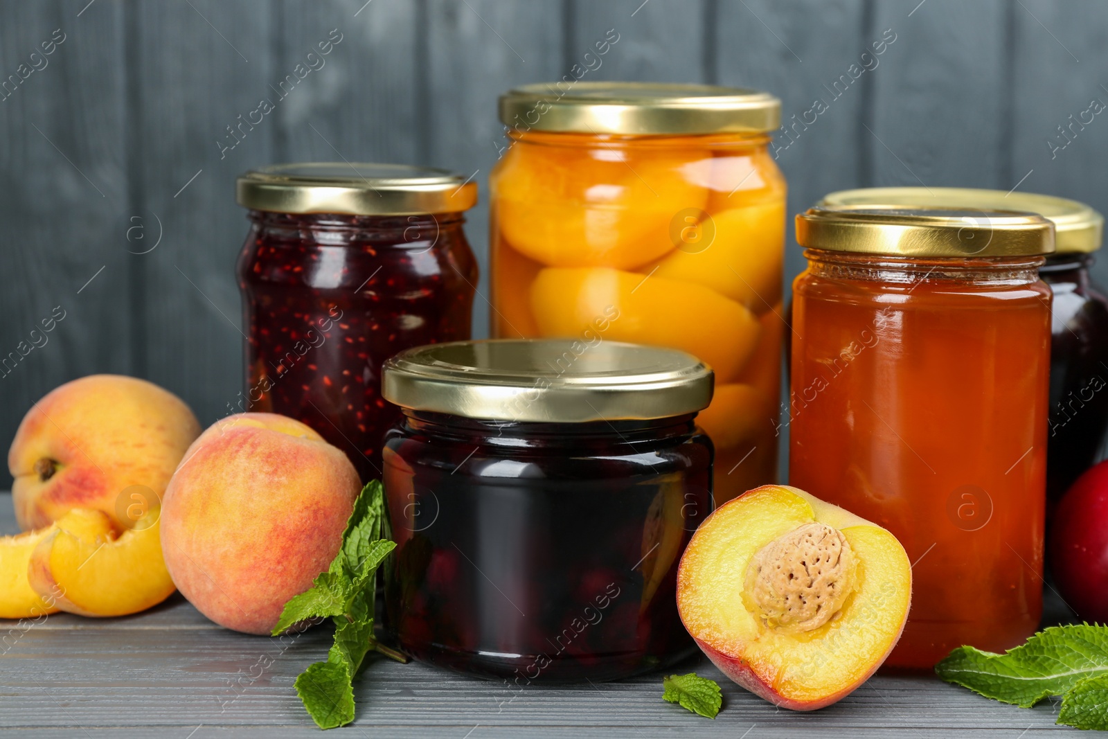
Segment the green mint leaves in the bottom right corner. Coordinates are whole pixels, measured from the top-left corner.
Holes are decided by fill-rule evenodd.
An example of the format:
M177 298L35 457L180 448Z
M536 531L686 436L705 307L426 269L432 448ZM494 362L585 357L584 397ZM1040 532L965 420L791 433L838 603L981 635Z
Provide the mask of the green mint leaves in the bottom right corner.
M947 682L1022 708L1061 696L1058 723L1108 729L1106 626L1051 626L1003 655L958 647L935 673Z

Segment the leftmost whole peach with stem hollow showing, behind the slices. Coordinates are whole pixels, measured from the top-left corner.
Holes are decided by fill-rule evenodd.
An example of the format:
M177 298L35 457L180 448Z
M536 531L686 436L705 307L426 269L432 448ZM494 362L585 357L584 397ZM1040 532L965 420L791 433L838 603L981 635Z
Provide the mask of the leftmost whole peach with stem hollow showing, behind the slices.
M152 382L91 374L55 388L23 417L8 452L16 519L41 528L74 507L124 528L156 505L199 422Z

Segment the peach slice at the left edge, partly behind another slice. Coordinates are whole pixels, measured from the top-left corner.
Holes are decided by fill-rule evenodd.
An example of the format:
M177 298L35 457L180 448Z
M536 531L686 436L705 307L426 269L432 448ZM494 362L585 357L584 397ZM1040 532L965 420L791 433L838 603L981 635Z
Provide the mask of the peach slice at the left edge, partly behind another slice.
M40 595L28 579L34 548L60 530L96 540L111 533L112 523L100 511L74 509L43 528L0 537L0 618L31 618L60 610L59 592L47 589Z

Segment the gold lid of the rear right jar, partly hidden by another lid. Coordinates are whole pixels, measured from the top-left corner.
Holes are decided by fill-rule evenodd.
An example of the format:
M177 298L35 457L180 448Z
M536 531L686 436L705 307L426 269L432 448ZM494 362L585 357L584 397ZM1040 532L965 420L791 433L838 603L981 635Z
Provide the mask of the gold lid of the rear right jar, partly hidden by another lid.
M1073 254L1100 248L1104 216L1085 203L1054 195L1005 193L1003 189L970 187L866 187L842 189L825 195L820 205L868 205L972 207L1037 213L1054 222L1055 252Z

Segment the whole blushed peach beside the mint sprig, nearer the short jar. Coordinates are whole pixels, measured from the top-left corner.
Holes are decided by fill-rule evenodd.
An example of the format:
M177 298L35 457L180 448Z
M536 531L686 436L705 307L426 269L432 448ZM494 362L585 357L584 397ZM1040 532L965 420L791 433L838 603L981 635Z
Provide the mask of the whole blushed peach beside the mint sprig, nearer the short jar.
M239 413L209 427L162 503L162 553L205 616L269 634L342 545L361 483L347 455L290 418Z

